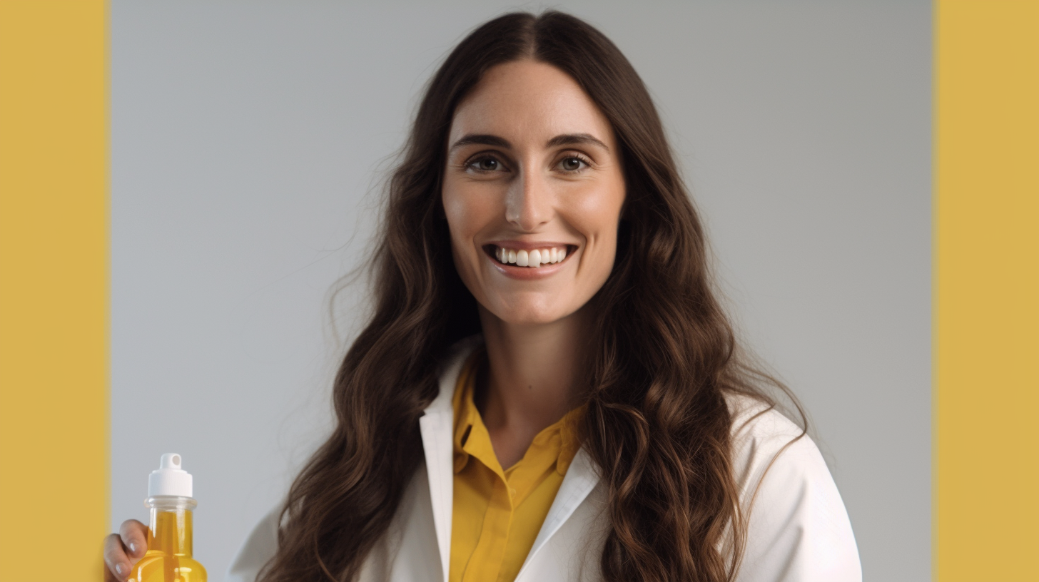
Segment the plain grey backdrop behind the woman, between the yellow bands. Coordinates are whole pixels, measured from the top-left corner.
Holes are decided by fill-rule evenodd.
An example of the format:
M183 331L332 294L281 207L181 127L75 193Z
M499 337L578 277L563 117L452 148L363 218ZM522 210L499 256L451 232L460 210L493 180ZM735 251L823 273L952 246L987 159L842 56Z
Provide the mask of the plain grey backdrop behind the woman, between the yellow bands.
M380 171L494 2L111 4L112 527L159 455L213 580L329 427ZM930 578L931 6L562 2L652 91L869 580ZM329 308L329 306L332 306Z

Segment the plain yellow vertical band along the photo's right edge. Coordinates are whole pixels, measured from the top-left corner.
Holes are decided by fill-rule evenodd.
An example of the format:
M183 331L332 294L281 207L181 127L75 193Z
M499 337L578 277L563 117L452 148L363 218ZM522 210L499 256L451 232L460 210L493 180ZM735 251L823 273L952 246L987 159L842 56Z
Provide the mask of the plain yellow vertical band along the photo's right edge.
M935 579L1039 580L1039 1L935 6Z

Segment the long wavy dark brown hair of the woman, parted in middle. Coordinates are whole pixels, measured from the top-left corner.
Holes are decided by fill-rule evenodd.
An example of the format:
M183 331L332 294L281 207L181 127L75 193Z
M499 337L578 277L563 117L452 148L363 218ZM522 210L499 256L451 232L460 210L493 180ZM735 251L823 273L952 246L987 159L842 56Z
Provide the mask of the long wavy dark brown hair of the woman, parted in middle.
M338 426L296 478L265 582L356 578L423 458L419 417L447 346L480 332L441 206L456 105L497 64L570 75L613 126L627 202L614 269L595 297L584 447L608 496L610 581L735 577L746 520L726 394L772 403L713 291L700 221L644 84L598 30L554 10L509 14L467 36L430 80L373 257L374 313L335 380Z

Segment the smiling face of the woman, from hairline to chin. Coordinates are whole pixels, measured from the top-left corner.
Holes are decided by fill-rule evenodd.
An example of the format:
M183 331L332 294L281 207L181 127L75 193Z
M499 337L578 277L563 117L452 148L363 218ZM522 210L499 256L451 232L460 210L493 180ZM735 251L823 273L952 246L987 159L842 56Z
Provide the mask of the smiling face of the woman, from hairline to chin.
M487 71L459 104L442 192L458 274L509 323L549 323L606 282L624 177L603 112L562 71Z

